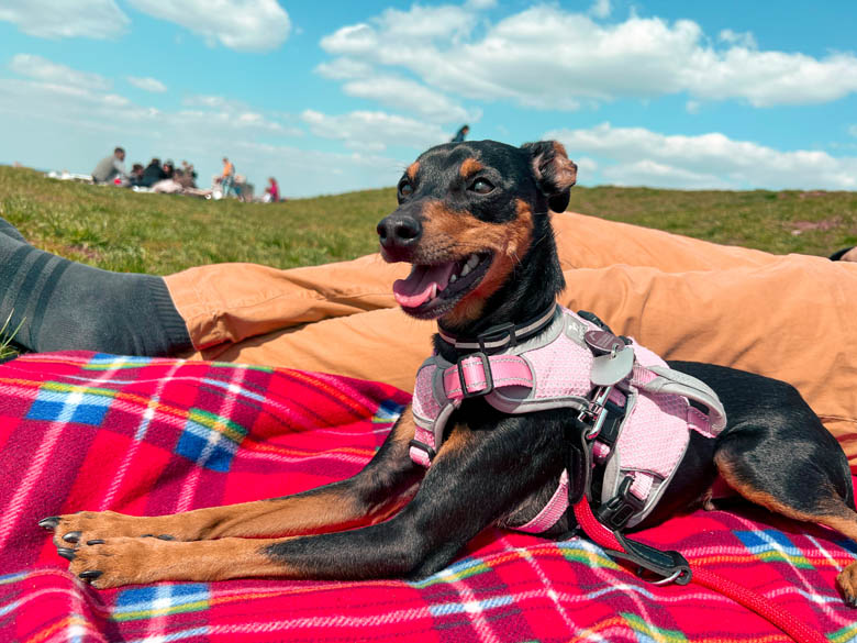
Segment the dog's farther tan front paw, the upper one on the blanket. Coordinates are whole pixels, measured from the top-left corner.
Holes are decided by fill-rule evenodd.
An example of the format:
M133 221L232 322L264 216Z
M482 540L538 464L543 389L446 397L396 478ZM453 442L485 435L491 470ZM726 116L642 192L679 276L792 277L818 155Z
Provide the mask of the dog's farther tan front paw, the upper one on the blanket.
M152 519L124 515L114 511L79 511L66 515L52 515L38 521L38 526L54 532L54 545L60 556L70 559L81 544L125 536L154 535L172 540L171 534L159 533ZM152 531L154 530L154 532Z

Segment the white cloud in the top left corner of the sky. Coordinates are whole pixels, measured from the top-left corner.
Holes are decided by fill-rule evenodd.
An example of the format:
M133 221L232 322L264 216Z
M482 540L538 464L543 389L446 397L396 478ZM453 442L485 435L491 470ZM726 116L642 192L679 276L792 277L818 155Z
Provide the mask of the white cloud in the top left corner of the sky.
M115 38L130 23L114 0L11 0L0 3L0 20L45 38Z

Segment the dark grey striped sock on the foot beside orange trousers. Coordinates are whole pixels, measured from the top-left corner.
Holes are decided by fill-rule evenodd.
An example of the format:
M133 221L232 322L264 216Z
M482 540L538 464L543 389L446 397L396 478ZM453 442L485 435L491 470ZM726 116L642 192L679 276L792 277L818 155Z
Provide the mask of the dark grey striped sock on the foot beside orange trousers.
M33 247L0 219L0 324L30 351L170 355L191 346L164 279L110 273Z

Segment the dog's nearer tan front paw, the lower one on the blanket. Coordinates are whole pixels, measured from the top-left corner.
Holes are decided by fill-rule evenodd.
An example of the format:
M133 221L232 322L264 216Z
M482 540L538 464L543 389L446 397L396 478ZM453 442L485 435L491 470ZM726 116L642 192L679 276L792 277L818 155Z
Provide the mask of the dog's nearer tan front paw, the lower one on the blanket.
M159 580L167 543L156 539L118 537L90 540L74 552L69 569L98 589Z

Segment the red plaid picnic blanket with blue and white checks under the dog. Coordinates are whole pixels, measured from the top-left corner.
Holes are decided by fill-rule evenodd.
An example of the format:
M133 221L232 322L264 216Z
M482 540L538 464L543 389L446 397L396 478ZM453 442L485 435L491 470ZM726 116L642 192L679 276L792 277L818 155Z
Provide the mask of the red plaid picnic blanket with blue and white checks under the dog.
M27 355L0 366L0 641L784 641L701 589L655 587L586 540L487 530L418 583L248 579L98 591L36 526L80 509L135 514L280 496L356 473L408 396L286 369ZM857 640L834 579L837 534L760 510L697 512L641 534Z

